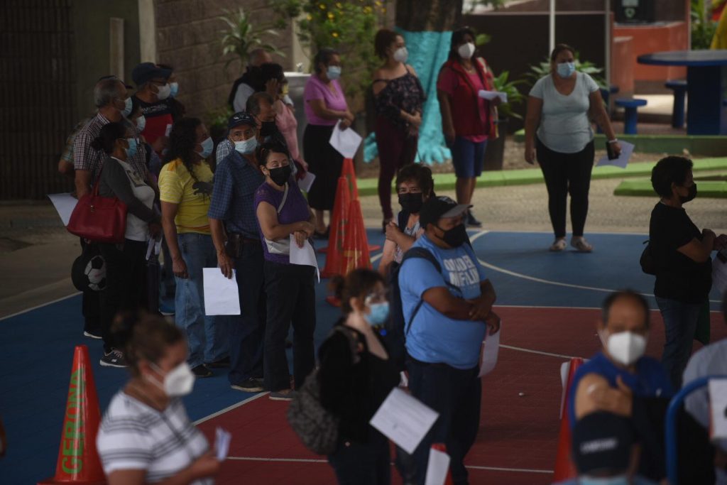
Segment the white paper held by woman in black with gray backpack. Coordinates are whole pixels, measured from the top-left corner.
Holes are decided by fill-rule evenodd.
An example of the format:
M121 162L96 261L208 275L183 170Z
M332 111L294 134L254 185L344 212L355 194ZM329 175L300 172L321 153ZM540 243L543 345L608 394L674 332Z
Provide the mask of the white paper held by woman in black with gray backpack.
M393 388L369 423L411 454L430 430L439 413L400 388Z

